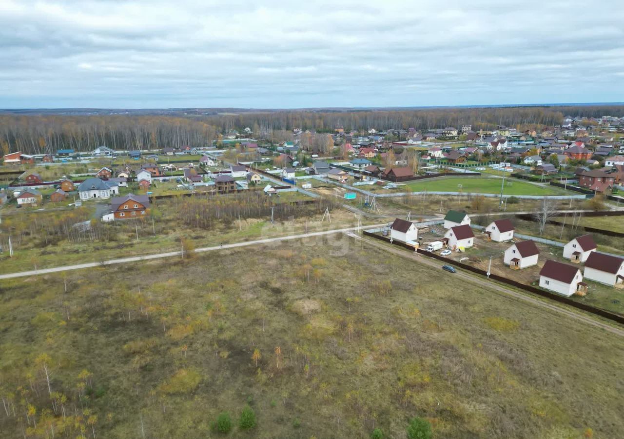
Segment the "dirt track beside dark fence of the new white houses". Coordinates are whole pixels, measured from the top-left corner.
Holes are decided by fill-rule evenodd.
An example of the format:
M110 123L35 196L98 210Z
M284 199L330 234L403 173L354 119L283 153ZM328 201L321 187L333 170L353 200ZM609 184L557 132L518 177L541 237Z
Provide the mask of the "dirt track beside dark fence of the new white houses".
M368 239L364 239L363 237L356 235L356 234L349 234L349 236L354 237L355 239L361 240L362 242L365 242L366 244L372 246L372 247L376 247L378 249L381 250L385 250L386 252L392 253L392 254L396 254L400 257L406 258L406 259L410 259L413 261L418 262L419 264L424 264L424 265L429 265L429 267L434 267L436 269L440 269L442 267L442 262L439 262L437 260L434 259L429 259L426 256L423 255L417 255L414 254L412 252L407 252L406 250L402 250L402 249L397 249L396 247L392 247L392 245L388 245L388 244L381 244L378 242L374 242L373 240L368 240ZM449 274L451 275L451 274ZM524 293L519 293L517 291L514 291L512 289L509 289L507 287L504 287L500 284L497 284L496 282L492 281L492 280L485 280L482 278L479 278L475 275L469 274L467 272L460 270L457 270L456 274L452 274L452 276L454 277L459 277L462 280L466 280L466 282L470 282L471 284L475 284L475 285L479 285L480 287L483 287L485 289L490 289L490 290L496 290L497 292L501 292L504 293L505 295L509 295L510 297L514 297L520 300L523 300L524 302L529 302L532 305L536 305L538 307L542 307L542 308L547 308L548 310L552 310L554 312L560 313L565 315L566 317L569 318L573 318L575 320L578 320L580 322L583 323L588 323L590 325L593 325L595 327L598 328L602 328L604 330L607 330L608 332L612 332L614 334L620 335L622 337L624 337L624 330L620 329L618 327L614 327L612 325L609 325L607 323L603 323L600 320L597 320L593 317L589 317L588 315L582 314L582 313L578 313L578 312L574 312L568 308L565 307L561 307L559 305L555 305L552 302L545 302L544 300L540 300L538 298L535 297L531 297L530 295L526 295Z

